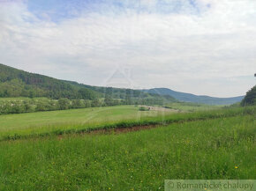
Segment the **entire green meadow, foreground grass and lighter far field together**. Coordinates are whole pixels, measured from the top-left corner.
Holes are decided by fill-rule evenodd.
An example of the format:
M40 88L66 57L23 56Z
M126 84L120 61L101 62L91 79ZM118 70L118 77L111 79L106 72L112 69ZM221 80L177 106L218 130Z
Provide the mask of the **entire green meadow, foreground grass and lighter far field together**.
M1 115L0 190L164 190L166 179L255 179L255 109ZM149 125L126 133L78 130Z

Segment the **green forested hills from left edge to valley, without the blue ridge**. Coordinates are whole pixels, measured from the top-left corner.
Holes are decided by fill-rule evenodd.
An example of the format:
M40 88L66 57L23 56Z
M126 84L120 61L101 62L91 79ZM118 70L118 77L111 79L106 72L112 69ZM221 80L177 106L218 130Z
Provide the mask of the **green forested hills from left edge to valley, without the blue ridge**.
M124 99L125 104L135 100L147 103L172 102L169 95L156 95L139 90L97 87L77 82L59 80L40 74L14 69L0 63L0 97L48 97L51 99Z

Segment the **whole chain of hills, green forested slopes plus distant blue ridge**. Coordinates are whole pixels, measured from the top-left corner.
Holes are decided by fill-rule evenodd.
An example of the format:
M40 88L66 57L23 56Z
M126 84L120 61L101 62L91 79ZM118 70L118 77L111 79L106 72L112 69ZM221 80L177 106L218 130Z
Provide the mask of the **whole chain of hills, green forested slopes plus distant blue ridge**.
M0 63L0 98L1 97L48 97L51 99L68 98L91 100L104 98L106 100L123 99L124 104L151 103L160 105L164 102L174 102L177 100L209 105L229 105L239 102L244 98L244 96L234 98L197 96L191 93L175 92L167 88L154 88L140 91L91 86L29 73Z

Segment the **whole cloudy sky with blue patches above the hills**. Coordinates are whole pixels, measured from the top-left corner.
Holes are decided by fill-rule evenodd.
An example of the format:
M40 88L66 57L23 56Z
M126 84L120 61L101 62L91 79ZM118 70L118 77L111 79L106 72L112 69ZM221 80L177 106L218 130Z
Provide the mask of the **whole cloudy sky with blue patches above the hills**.
M215 97L256 82L255 0L0 0L0 63Z

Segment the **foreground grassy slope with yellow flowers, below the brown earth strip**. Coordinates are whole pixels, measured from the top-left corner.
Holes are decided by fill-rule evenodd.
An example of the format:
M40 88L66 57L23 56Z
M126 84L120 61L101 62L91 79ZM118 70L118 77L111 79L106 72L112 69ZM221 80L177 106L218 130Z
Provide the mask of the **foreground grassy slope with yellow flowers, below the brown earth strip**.
M165 179L256 179L255 127L254 115L241 115L1 142L0 190L163 190Z

